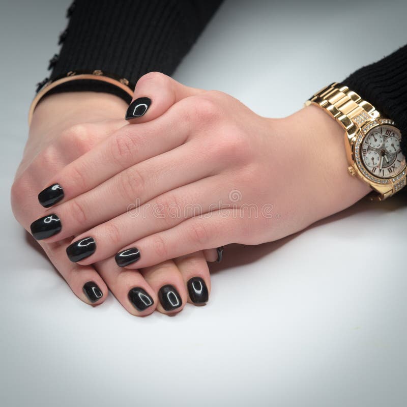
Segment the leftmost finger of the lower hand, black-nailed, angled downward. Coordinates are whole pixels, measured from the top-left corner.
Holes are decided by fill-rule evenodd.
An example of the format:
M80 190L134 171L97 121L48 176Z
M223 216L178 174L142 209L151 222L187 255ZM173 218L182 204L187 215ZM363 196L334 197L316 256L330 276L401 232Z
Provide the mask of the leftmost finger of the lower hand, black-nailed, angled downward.
M48 258L73 293L86 304L101 304L108 294L106 284L92 266L78 266L71 263L66 257L66 246L66 241L42 245Z

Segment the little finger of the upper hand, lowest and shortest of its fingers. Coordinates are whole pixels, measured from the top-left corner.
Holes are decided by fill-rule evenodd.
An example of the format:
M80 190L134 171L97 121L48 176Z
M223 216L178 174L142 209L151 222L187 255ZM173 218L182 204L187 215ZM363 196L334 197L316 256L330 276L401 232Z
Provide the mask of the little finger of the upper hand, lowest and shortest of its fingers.
M250 230L247 222L233 215L225 217L223 211L195 216L170 229L136 241L123 251L137 248L138 259L123 267L133 269L148 267L169 258L184 256L198 250L220 247L229 243L244 243L244 230ZM234 236L234 241L231 237ZM119 252L121 253L122 250Z

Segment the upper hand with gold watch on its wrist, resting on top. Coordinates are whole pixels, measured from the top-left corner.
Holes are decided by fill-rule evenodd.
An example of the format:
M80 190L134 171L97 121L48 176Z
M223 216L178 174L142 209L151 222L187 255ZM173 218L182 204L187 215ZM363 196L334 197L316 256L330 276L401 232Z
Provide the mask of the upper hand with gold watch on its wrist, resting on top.
M135 95L152 104L134 121L163 114L124 126L44 184L65 193L42 214L63 224L46 241L80 233L68 254L81 265L119 252L118 264L146 267L232 242L273 241L370 190L346 171L343 130L313 106L263 118L222 92L157 73L142 77ZM89 239L92 250L83 248Z

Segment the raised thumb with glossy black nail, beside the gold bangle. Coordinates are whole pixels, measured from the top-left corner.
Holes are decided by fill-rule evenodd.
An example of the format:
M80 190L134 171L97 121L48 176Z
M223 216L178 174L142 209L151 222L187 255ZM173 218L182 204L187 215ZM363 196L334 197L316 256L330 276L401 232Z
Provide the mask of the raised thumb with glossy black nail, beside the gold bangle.
M134 89L126 120L144 123L156 119L179 100L205 92L190 88L160 72L141 76Z

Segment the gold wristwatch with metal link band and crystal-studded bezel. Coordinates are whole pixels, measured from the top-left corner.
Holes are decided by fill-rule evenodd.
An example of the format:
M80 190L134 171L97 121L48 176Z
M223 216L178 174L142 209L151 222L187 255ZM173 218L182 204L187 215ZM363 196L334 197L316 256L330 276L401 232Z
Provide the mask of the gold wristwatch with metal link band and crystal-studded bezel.
M401 133L391 119L340 83L332 83L305 103L324 109L345 129L348 172L367 182L372 197L384 200L406 184Z

